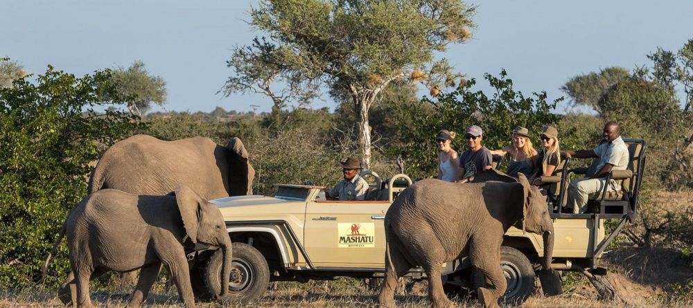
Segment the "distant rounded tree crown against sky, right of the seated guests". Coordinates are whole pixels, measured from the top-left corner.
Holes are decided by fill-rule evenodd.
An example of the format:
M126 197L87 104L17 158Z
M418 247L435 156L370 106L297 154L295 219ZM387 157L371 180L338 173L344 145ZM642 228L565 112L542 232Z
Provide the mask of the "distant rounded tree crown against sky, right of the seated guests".
M563 84L561 90L568 94L573 105L591 107L600 113L597 100L602 97L604 91L630 75L627 69L611 66L600 69L599 73L590 72L574 76Z

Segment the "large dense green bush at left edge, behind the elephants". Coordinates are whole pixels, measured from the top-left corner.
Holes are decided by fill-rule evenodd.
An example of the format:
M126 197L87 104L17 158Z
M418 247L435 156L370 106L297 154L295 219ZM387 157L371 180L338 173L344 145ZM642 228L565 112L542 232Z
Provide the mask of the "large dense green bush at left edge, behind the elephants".
M19 78L0 89L0 288L35 282L67 212L87 192L100 144L112 145L136 125L118 111L93 111L122 103L110 77L76 78L49 66L35 83ZM50 269L66 268L58 258Z

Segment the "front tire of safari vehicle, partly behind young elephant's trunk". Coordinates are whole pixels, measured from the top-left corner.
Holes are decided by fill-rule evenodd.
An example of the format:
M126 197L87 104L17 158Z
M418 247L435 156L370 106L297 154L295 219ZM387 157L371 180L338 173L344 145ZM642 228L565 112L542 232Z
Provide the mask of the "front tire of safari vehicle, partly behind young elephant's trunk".
M239 302L249 302L260 298L267 284L270 283L270 268L265 257L253 246L244 243L233 243L233 265L240 277L234 281L231 273L229 281L229 299ZM211 255L202 268L202 283L204 291L200 299L211 300L214 295L221 293L221 270L224 254L218 250Z

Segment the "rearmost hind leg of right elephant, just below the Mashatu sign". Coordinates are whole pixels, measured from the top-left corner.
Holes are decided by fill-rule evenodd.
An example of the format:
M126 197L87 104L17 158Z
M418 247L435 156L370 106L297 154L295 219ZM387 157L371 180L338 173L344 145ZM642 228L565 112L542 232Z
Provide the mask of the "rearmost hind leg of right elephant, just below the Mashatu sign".
M394 293L399 284L398 279L407 273L412 266L399 250L403 248L402 243L396 237L389 237L388 240L389 243L385 249L385 279L378 295L378 303L385 307L394 307ZM396 247L396 249L391 247Z

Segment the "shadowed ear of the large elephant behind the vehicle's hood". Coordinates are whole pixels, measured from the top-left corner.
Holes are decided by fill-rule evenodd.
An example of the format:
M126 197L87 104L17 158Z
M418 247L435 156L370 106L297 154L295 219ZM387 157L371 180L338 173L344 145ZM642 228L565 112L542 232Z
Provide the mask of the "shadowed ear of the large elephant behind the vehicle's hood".
M248 150L240 138L231 138L226 146L229 150L229 195L253 194L255 170L250 165Z

